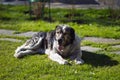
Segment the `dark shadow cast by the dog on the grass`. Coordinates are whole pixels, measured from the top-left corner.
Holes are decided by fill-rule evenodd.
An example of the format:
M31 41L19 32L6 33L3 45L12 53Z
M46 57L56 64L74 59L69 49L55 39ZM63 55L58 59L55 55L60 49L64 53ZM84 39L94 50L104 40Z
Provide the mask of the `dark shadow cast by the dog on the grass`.
M114 66L118 64L118 61L111 59L109 56L105 54L97 54L91 52L83 52L83 60L86 64L90 64L92 66Z

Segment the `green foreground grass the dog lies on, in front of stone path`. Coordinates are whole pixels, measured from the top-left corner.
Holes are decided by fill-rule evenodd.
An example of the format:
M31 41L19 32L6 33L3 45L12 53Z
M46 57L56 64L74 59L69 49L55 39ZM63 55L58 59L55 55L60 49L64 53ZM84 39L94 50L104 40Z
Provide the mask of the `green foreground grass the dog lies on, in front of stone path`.
M46 55L13 57L21 43L0 41L0 80L118 80L120 55L83 52L83 65L59 65Z

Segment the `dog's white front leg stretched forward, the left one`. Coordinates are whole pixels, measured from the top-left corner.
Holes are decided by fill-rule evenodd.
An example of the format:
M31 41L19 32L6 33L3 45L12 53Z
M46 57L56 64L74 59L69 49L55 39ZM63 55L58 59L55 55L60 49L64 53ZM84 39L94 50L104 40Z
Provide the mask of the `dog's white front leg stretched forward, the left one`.
M68 61L63 59L59 54L57 53L51 53L49 55L49 58L53 61L58 62L59 64L68 64Z

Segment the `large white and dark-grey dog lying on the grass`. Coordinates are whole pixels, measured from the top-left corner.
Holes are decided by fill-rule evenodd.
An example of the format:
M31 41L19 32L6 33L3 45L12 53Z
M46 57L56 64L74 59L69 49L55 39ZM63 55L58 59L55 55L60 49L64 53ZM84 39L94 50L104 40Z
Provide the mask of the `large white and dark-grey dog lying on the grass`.
M38 32L31 39L15 50L16 58L28 54L45 53L59 64L69 64L67 59L75 60L76 64L83 64L80 48L81 38L68 25L57 25L55 30Z

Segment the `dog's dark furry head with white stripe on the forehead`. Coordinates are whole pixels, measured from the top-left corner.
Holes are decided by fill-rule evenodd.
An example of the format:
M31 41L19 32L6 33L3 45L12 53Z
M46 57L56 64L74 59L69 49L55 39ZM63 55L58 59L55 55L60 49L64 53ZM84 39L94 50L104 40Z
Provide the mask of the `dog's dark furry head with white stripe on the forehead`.
M75 31L67 25L57 25L55 29L55 40L60 48L66 47L73 43L75 39Z

